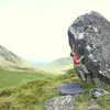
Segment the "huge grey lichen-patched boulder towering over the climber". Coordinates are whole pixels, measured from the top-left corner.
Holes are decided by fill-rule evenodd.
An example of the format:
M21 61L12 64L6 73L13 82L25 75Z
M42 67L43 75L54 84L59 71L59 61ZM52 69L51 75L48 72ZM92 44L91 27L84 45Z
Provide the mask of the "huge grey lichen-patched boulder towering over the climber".
M68 38L70 48L79 57L85 56L85 65L94 78L110 79L110 22L107 19L94 11L80 15L69 26Z

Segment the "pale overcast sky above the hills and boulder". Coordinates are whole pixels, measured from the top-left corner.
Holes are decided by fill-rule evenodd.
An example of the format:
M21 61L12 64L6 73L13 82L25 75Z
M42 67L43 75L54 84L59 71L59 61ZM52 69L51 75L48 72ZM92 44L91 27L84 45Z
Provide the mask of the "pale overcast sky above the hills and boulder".
M69 55L67 30L97 11L110 20L109 0L0 0L0 45L31 62Z

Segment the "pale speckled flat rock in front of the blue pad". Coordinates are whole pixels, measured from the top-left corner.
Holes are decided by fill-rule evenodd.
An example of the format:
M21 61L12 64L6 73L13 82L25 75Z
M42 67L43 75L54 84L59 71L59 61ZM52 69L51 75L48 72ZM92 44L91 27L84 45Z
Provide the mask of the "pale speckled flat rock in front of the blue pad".
M74 102L73 96L61 96L45 101L43 110L73 110Z

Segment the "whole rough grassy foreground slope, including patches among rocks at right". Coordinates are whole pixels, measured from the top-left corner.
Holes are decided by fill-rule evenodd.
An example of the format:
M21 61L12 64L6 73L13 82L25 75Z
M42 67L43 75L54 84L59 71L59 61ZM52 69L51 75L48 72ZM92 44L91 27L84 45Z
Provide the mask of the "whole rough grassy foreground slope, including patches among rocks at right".
M7 88L0 90L0 110L42 110L43 102L55 96L59 96L59 92L55 90L58 86L70 82L79 81L73 69L67 72L68 74L59 75L43 80L36 79L33 81L25 82L14 88ZM79 81L80 82L80 81ZM87 90L82 96L75 98L74 110L85 110L90 105L89 90L95 88L91 84L80 85ZM110 90L110 89L108 89ZM97 100L99 105L98 110L110 110L110 96L107 95ZM105 108L105 109L103 109Z

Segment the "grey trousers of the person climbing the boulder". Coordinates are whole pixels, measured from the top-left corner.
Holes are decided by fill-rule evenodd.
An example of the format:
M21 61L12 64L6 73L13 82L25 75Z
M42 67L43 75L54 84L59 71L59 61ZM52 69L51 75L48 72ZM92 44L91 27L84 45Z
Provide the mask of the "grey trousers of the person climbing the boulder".
M82 81L86 81L86 76L88 74L88 70L84 64L75 65L75 70L78 74L78 76L81 78Z

